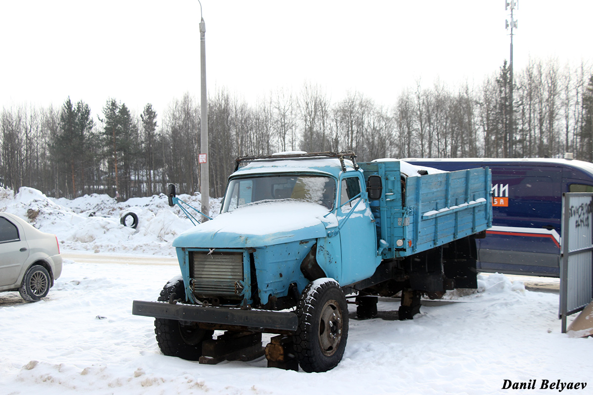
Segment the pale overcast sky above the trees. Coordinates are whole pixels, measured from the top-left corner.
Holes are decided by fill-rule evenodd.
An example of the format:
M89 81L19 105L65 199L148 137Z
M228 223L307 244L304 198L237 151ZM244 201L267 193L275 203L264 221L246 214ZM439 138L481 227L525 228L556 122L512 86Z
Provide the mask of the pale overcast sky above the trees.
M202 0L208 91L254 104L305 81L338 101L359 91L391 106L438 78L481 84L509 59L505 0ZM593 60L593 1L519 0L514 67ZM0 105L94 115L108 98L162 114L200 97L200 5L193 1L0 0Z

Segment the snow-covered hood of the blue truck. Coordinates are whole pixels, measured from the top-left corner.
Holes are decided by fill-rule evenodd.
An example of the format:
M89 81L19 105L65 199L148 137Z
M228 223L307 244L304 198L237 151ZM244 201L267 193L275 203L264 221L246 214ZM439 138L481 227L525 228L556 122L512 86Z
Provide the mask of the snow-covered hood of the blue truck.
M326 207L301 201L256 203L222 213L173 241L174 247L245 248L327 235ZM328 217L335 218L334 214Z

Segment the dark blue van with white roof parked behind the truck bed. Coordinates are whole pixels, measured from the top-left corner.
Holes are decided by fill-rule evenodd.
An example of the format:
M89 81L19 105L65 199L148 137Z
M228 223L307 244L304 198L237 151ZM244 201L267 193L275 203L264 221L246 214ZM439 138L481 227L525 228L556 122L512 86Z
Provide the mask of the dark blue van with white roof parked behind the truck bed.
M403 159L445 171L492 169L493 226L477 269L559 277L564 192L593 192L593 164L568 159Z

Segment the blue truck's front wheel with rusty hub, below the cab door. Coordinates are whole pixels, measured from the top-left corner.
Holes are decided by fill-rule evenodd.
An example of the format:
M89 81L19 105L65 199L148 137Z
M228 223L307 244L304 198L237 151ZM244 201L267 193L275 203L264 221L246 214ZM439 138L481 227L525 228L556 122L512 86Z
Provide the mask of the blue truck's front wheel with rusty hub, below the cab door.
M342 360L348 338L348 307L340 285L330 278L311 282L297 306L295 352L305 372L325 372Z

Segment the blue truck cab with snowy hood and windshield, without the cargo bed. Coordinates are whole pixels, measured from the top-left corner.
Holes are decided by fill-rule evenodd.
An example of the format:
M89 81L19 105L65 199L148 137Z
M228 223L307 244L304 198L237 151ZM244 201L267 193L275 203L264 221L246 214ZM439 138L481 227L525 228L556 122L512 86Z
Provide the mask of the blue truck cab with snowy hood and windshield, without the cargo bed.
M193 303L286 308L318 277L349 285L380 263L360 169L273 159L238 167L221 214L174 240Z

